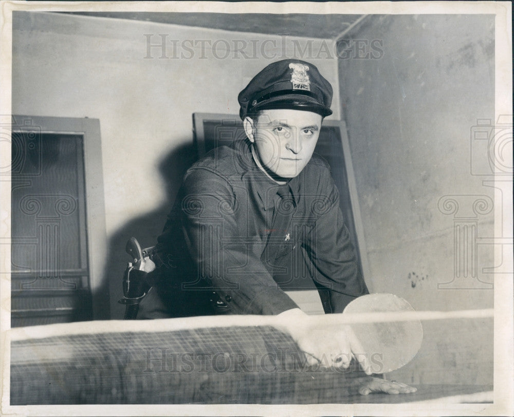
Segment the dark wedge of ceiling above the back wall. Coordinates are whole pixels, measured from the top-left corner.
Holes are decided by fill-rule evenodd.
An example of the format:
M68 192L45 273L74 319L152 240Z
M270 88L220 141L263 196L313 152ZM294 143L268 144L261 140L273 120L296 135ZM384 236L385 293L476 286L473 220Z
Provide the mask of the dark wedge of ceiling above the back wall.
M335 39L361 14L270 13L164 13L164 12L60 12L237 32Z

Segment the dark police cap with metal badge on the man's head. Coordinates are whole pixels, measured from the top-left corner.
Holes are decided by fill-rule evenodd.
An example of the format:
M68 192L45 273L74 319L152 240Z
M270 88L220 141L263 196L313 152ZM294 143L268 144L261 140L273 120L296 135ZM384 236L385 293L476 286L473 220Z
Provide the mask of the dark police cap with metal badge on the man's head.
M287 108L332 114L332 85L313 64L282 60L269 64L241 91L237 100L241 119L259 110Z

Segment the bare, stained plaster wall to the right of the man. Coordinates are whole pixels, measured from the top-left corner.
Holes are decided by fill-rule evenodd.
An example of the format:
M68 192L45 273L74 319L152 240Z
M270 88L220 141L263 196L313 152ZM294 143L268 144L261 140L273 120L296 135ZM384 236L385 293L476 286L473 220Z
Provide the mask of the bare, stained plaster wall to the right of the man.
M339 60L366 281L416 310L493 307L494 188L478 175L490 167L474 126L494 124L494 16L370 16L357 40L382 50ZM492 319L424 328L415 361L392 377L492 384Z

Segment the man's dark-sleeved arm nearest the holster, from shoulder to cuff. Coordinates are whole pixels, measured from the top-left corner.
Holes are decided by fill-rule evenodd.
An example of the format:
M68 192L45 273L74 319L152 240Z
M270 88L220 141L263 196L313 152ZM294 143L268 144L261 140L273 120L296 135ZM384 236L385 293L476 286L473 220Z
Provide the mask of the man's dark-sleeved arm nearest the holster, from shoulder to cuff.
M279 314L297 308L252 251L246 224L230 183L204 168L190 170L183 183L182 228L201 276L237 314ZM248 219L251 221L251 219Z

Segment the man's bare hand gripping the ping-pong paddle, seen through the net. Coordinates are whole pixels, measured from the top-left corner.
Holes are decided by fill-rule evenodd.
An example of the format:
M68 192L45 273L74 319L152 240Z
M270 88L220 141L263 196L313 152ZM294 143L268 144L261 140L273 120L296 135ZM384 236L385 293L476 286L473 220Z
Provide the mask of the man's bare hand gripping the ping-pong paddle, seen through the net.
M355 358L364 372L371 375L369 355L349 326L322 327L316 316L309 316L300 309L284 311L277 318L279 330L295 340L309 365L346 369Z

